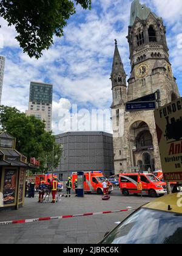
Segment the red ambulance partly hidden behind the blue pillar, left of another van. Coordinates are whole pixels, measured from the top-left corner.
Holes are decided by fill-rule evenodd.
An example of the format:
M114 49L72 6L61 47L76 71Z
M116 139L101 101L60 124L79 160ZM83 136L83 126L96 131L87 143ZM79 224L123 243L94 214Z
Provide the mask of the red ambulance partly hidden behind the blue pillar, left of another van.
M78 178L77 172L72 172L73 189L74 182ZM103 176L102 171L86 171L84 172L84 192L103 194L103 181L106 178ZM109 194L113 191L112 183L109 183Z

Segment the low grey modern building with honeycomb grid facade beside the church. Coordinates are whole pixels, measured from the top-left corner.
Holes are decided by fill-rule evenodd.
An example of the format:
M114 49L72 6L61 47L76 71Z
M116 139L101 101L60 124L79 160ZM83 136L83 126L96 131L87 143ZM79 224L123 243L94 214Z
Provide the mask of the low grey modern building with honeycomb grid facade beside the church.
M63 180L73 171L103 171L114 174L113 137L105 132L67 132L56 135L62 146L59 172Z

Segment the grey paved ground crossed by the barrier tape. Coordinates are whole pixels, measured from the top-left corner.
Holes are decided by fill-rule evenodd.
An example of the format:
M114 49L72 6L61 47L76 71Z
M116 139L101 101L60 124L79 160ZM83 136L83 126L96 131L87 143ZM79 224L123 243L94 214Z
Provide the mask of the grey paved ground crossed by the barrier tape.
M74 195L71 198L62 197L62 201L55 205L50 202L38 204L36 195L35 199L25 199L25 207L18 211L0 212L0 221L124 210L126 207L135 209L152 200L147 196L121 196L118 188L115 188L109 201L102 201L97 194L86 194L84 198ZM122 221L130 213L132 212L0 226L0 244L94 244L117 225L115 222Z

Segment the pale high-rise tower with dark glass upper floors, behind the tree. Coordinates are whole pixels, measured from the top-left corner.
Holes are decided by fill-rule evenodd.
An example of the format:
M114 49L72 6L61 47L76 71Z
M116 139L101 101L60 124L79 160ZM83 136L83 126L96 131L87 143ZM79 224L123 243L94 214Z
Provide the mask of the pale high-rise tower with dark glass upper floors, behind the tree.
M45 121L45 130L52 130L52 93L53 85L30 82L29 110L25 113Z

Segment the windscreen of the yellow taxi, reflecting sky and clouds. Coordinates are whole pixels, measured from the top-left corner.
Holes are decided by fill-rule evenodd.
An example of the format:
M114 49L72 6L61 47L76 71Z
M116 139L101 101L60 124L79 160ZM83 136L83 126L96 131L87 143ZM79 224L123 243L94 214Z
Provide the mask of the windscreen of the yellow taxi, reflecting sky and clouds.
M182 215L140 209L104 238L103 244L181 244Z

